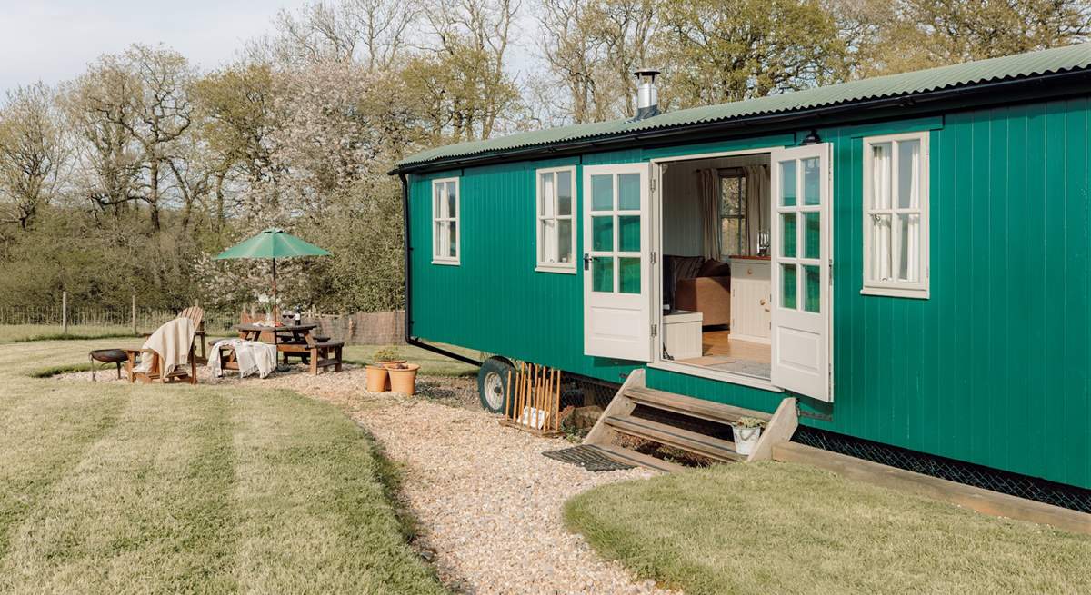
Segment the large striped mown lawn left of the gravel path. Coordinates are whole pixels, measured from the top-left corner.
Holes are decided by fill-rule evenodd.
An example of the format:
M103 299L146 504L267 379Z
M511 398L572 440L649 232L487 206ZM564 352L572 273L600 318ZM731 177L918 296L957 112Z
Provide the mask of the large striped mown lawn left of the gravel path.
M443 592L333 406L28 376L118 343L0 350L0 593Z

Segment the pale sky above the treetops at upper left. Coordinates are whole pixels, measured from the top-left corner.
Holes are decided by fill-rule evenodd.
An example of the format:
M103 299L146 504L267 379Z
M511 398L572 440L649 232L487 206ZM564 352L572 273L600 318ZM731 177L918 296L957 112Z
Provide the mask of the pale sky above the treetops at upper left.
M104 53L165 44L201 70L229 62L304 0L0 0L0 94L80 75Z

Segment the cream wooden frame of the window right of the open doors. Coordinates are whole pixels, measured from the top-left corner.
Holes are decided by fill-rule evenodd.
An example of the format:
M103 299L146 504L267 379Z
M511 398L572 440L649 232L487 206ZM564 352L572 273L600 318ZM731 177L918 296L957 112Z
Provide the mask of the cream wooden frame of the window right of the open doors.
M863 268L863 295L885 295L888 298L915 298L927 300L930 294L930 260L928 260L928 203L931 186L928 183L928 131L887 134L883 136L868 136L864 139L863 170L864 170L864 198L863 198L863 233L864 233L864 268ZM898 144L904 141L919 141L921 143L921 161L919 168L919 181L921 195L916 208L899 208L898 199L892 193L898 189ZM872 159L875 145L890 145L890 208L873 208L874 183ZM889 215L891 221L891 251L898 250L899 242L898 228L894 224L898 215L920 215L920 241L918 247L918 258L920 258L919 281L897 281L872 279L872 259L875 257L872 246L872 218L877 215Z

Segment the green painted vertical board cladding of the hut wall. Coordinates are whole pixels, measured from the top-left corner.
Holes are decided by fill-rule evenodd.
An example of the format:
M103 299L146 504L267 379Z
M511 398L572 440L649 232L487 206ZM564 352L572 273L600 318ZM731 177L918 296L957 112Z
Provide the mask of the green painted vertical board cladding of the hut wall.
M802 423L1091 488L1089 108L1080 98L819 129L834 147L835 402L804 400L831 420ZM861 295L862 137L920 130L931 131L931 298ZM415 335L615 381L636 365L583 355L582 271L535 271L533 170L579 161L460 172L459 267L430 264L430 186L411 178ZM658 369L648 382L765 411L783 397Z

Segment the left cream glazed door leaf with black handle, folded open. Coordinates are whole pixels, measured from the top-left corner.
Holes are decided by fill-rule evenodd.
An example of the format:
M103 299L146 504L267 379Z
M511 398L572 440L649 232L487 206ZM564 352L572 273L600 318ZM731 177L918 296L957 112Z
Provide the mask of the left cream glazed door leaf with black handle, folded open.
M651 361L648 163L584 168L584 353Z

